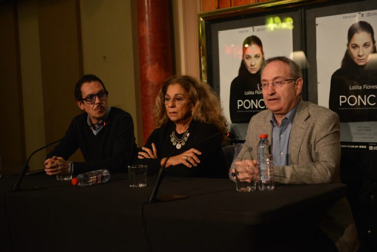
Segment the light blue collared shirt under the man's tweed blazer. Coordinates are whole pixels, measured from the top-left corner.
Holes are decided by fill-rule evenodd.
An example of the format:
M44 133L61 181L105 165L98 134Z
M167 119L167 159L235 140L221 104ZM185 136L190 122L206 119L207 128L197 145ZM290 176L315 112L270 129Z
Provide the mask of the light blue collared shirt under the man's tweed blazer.
M280 127L277 125L275 116L272 114L270 122L272 124L272 158L274 166L289 166L289 139L291 137L292 123L295 118L298 102L281 121Z

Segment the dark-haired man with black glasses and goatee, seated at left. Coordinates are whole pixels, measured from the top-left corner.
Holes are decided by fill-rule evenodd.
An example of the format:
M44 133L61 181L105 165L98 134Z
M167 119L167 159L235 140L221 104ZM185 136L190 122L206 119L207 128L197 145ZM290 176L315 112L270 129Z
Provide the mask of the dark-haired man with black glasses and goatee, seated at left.
M95 75L84 75L78 81L75 98L84 113L73 118L66 132L66 136L74 134L60 141L47 155L46 173L55 175L54 163L67 160L78 148L85 163L73 162L74 174L97 169L126 171L136 153L131 115L108 106L108 91Z

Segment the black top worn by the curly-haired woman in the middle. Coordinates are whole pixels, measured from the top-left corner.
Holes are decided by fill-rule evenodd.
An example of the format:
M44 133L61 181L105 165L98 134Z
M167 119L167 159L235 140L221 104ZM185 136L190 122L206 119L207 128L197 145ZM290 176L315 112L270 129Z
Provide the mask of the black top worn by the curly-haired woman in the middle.
M158 159L139 159L137 164L148 165L148 174L156 174L161 167L161 159L168 156L179 155L190 148L199 150L202 154L197 155L200 163L197 167L180 164L165 169L165 175L175 177L215 177L226 178L228 169L225 156L221 147L222 136L218 133L214 124L207 124L192 120L188 127L188 140L180 149L173 145L170 135L175 131L175 124L169 122L161 128L155 129L149 136L145 147L152 150L152 142L155 143ZM181 139L183 134L176 134Z

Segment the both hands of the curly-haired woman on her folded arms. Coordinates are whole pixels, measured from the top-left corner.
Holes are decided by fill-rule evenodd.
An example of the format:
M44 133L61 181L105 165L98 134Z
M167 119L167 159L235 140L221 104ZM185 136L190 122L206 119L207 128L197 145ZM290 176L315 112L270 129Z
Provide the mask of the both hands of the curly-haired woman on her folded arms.
M152 143L152 150L147 147L142 147L141 149L143 151L139 151L138 156L137 156L139 159L158 158L156 145L154 143ZM191 148L182 154L170 157L169 160L165 164L165 168L168 168L169 166L180 165L180 164L183 164L189 168L192 166L196 167L200 163L200 160L196 155L201 155L201 154L202 153L198 151L197 149ZM162 158L161 165L165 163L165 160L166 158Z

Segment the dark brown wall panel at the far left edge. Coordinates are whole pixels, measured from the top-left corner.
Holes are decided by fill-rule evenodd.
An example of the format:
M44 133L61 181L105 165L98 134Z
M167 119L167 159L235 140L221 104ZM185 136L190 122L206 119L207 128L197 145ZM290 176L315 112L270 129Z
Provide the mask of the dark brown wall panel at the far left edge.
M17 173L25 162L24 111L16 3L0 2L0 155L2 173Z

